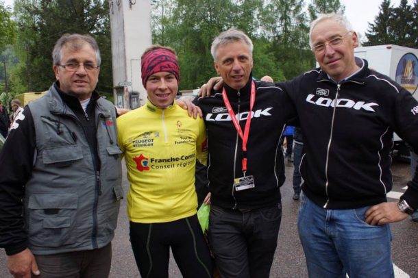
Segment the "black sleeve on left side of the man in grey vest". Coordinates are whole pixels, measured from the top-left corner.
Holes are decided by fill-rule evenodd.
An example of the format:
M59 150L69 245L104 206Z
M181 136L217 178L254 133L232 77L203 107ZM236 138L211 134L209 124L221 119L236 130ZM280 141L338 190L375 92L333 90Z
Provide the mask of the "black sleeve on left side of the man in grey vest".
M27 248L23 198L36 159L36 133L29 108L16 118L0 153L0 247L7 255Z

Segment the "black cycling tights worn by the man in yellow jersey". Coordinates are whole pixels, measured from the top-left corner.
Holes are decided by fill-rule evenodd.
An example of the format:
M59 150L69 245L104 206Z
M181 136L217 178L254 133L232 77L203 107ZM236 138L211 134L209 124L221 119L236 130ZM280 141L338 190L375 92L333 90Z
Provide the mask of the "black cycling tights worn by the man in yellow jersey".
M212 258L196 215L167 223L130 222L130 238L143 278L169 277L170 247L183 277L212 277Z

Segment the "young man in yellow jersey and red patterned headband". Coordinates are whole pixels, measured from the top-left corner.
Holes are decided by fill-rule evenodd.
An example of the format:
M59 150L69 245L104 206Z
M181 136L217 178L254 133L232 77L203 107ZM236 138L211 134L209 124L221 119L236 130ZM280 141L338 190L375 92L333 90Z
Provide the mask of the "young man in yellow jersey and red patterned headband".
M207 158L204 121L175 105L180 68L173 49L153 45L141 70L147 104L117 119L136 264L142 277L169 277L171 247L183 277L212 277L194 185L196 159Z

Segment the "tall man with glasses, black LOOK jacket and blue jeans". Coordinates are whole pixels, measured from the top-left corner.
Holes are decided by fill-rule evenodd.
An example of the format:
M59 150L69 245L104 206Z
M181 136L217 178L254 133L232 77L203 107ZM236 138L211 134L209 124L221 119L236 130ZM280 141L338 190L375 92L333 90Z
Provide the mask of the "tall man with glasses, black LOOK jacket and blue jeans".
M417 209L418 175L398 202L387 202L392 137L418 151L418 102L356 62L358 38L345 16L313 21L310 45L320 68L278 84L304 137L298 229L309 276L393 277L389 223Z

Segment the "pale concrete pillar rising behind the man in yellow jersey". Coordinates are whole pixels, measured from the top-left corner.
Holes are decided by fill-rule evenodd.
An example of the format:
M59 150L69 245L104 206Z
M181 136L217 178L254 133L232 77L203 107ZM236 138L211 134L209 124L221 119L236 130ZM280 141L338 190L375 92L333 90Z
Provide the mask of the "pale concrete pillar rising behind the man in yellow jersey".
M140 79L140 55L152 44L151 1L109 0L109 6L115 103L136 108L132 103L147 101Z

